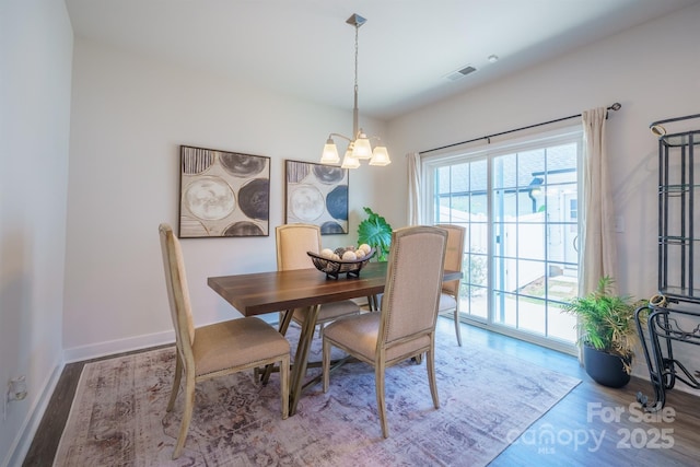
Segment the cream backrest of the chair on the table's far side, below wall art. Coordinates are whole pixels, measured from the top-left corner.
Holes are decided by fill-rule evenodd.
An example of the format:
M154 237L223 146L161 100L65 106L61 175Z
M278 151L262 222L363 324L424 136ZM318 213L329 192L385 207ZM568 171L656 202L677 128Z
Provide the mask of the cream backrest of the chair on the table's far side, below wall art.
M284 224L275 229L277 270L313 268L306 252L320 253L320 227L313 224Z

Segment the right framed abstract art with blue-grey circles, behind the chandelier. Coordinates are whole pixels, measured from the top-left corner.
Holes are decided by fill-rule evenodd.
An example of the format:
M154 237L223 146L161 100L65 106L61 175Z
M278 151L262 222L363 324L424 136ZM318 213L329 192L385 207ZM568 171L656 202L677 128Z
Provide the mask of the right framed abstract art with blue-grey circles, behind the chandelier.
M285 222L320 226L322 235L348 233L349 171L284 161Z

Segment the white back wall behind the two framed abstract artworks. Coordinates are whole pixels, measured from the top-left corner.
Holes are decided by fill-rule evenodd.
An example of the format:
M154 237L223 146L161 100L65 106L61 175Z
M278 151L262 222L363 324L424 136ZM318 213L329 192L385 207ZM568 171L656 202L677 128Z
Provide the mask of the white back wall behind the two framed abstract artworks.
M197 324L240 316L207 277L277 267L283 161L317 162L329 132L351 131L351 114L81 39L73 77L67 360L173 341L158 225L177 231L179 144L271 157L269 236L182 241ZM350 233L324 236L325 245L357 243L361 208L388 206L374 201L375 187L378 177L390 183L394 168L351 172Z

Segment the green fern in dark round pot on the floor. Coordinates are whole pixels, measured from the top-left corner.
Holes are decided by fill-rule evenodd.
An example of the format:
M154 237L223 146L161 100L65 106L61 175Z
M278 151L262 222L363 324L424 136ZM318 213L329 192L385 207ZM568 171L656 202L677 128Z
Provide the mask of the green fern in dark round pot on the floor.
M600 278L594 292L573 299L563 311L579 318L586 373L604 386L622 387L640 345L634 312L646 301L615 294L614 282L609 276Z

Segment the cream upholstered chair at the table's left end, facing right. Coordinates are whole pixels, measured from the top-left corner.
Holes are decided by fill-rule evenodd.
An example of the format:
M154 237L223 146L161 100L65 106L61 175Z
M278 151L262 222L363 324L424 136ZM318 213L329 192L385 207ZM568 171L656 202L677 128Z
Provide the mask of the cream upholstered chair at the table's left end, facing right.
M167 224L159 227L167 297L175 327L177 357L167 411L173 410L185 373L185 410L173 458L179 457L195 406L195 384L217 376L279 362L282 418L289 416L289 341L256 317L195 328L179 241Z

